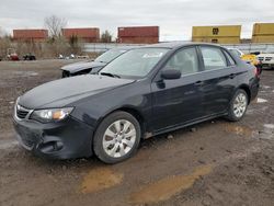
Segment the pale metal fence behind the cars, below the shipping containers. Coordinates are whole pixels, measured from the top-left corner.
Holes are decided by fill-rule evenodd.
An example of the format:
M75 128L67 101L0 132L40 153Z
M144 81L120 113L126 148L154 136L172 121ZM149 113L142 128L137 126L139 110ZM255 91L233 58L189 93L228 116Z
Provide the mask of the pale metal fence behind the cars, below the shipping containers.
M183 42L182 42L183 43ZM121 43L87 43L83 46L83 52L87 53L103 53L118 46L144 46L145 44L121 44ZM246 54L254 52L274 52L274 44L224 44L227 48L238 48Z

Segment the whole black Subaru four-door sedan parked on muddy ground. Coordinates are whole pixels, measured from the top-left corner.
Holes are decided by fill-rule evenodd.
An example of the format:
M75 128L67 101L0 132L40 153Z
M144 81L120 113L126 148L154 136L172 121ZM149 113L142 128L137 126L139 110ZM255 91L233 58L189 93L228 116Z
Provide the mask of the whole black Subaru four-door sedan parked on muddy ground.
M21 145L41 157L133 156L140 139L225 116L240 121L256 96L256 69L210 44L132 49L98 75L42 84L16 101Z

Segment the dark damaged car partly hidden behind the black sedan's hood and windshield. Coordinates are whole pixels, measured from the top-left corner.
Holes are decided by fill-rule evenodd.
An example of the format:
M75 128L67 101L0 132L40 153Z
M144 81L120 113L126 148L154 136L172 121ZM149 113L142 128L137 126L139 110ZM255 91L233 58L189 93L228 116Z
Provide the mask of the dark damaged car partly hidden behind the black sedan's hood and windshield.
M62 78L87 75L90 73L91 71L96 72L101 68L103 68L106 64L109 64L119 55L135 47L134 46L117 47L103 53L92 61L81 61L81 62L66 65L61 67Z

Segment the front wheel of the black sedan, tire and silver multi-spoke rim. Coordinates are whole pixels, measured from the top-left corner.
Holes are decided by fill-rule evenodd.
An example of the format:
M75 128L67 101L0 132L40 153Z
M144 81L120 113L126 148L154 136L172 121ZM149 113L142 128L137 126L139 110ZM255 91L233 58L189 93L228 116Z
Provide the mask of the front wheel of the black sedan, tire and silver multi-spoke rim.
M114 112L99 125L93 138L93 150L101 161L117 163L137 151L140 137L140 124L132 114Z

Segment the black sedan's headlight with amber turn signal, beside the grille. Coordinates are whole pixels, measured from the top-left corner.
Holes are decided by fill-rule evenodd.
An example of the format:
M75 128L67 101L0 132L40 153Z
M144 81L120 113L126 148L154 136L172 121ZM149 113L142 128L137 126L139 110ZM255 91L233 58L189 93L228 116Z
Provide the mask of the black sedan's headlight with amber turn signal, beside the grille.
M37 110L33 111L30 118L41 123L58 122L65 119L72 110L73 107Z

